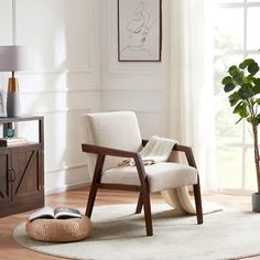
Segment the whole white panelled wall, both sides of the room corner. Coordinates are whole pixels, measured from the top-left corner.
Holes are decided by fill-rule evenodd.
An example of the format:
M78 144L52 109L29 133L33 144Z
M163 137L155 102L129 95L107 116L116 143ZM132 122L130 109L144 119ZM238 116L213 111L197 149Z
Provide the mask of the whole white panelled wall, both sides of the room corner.
M0 32L32 47L18 77L23 113L45 117L47 192L88 181L83 113L134 110L144 138L166 133L164 63L117 62L117 0L0 0Z

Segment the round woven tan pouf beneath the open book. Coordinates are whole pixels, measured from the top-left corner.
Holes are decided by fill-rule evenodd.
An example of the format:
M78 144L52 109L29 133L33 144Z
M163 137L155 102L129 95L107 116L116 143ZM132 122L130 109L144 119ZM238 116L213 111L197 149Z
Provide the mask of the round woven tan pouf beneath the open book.
M91 223L86 216L69 219L39 218L26 223L29 237L48 242L77 241L88 237L90 231Z

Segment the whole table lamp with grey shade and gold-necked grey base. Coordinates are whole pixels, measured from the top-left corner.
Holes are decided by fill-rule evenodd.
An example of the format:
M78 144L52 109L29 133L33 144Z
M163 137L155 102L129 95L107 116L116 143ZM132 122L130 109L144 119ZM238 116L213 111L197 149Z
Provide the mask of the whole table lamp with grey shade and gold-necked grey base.
M19 117L21 115L19 86L18 79L14 77L14 72L28 71L30 67L29 57L29 47L26 46L0 46L0 72L12 73L12 77L8 82L8 117Z

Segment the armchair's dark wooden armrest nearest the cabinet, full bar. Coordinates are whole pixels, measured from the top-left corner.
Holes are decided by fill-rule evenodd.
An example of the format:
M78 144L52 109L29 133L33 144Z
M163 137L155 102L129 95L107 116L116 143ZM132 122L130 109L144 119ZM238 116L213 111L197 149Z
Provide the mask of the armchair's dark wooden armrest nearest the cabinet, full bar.
M110 155L110 156L118 156L118 158L138 158L138 153L136 152L129 152L124 150L118 150L118 149L111 149L111 148L105 148L94 144L82 144L83 152L86 153L96 153L101 155Z

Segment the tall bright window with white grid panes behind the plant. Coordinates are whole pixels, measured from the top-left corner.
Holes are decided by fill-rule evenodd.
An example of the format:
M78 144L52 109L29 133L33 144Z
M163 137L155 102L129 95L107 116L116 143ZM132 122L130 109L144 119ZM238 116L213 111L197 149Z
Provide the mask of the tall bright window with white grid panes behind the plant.
M256 191L250 124L232 115L220 84L229 66L252 57L260 64L260 0L218 0L214 19L214 93L220 191Z

